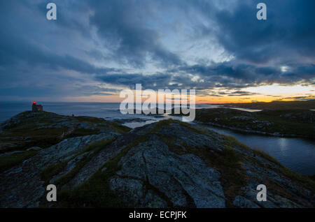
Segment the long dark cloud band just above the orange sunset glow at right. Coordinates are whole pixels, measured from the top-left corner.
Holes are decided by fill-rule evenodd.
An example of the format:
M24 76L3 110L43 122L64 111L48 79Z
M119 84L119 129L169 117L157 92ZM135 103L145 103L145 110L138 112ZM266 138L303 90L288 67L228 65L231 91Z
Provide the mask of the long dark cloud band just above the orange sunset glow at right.
M281 67L257 67L251 64L237 64L235 61L232 61L210 66L182 66L169 72L181 73L181 77L177 77L177 80L188 85L195 84L193 82L189 83L191 79L188 79L186 73L200 77L202 82L196 82L196 86L200 88L244 88L254 87L259 84L272 84L273 82L294 84L295 82L304 81L314 84L314 71L313 64L295 64L294 66L288 66L288 71L281 71Z

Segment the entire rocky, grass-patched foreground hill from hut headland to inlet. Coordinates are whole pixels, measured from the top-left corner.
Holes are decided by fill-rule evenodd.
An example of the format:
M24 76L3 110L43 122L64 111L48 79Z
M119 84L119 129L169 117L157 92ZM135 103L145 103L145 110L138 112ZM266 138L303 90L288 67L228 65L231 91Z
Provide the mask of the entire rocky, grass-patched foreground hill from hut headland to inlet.
M198 124L167 119L131 130L23 112L0 128L0 207L315 206L309 177ZM57 202L46 200L48 184ZM259 184L267 201L256 199Z

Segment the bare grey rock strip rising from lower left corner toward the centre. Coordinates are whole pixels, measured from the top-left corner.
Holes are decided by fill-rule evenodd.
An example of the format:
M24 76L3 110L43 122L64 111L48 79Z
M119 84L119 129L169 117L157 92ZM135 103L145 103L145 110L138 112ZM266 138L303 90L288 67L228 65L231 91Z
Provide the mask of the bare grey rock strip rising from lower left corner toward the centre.
M38 207L45 192L41 171L50 165L71 158L92 142L112 137L110 134L69 138L40 151L20 165L0 174L0 207Z

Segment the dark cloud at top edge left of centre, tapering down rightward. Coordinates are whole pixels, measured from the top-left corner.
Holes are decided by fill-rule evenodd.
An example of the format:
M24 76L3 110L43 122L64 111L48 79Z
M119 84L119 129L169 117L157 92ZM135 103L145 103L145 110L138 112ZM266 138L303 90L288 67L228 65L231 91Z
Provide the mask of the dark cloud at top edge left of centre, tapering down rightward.
M91 1L94 15L92 25L106 42L113 44L115 59L133 66L144 66L147 57L159 61L162 66L181 64L176 54L169 52L160 43L160 33L148 24L154 19L155 1Z

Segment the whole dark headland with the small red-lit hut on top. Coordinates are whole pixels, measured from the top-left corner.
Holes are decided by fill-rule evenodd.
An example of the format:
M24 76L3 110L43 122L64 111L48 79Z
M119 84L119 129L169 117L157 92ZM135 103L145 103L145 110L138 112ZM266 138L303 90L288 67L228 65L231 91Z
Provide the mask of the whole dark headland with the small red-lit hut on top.
M21 112L0 124L0 154L46 148L66 138L112 131L124 133L130 129L95 117L70 117L52 112Z

